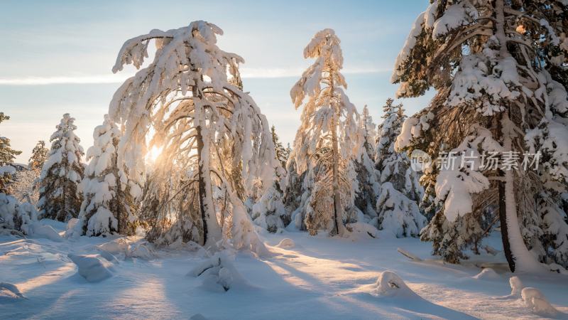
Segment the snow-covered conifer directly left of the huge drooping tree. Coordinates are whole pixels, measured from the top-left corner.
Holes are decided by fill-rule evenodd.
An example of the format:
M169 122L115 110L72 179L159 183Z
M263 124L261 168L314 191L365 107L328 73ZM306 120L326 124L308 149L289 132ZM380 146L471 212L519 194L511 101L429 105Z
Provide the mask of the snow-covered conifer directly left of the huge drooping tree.
M83 202L79 214L81 231L85 235L134 233L134 203L124 171L117 164L121 132L107 114L104 122L94 128L94 144L87 149L87 161L80 183Z

